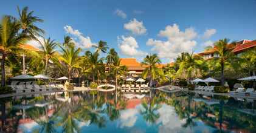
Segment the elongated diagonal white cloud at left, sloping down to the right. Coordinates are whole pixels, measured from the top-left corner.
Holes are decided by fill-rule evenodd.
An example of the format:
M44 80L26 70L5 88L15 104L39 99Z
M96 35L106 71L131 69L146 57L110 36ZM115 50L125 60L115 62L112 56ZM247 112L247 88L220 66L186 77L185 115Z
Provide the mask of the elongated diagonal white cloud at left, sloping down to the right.
M73 41L75 42L75 44L77 45L77 47L81 47L81 48L91 48L92 45L96 45L94 43L92 43L91 38L89 36L85 37L83 36L82 33L80 33L80 31L78 30L74 30L71 26L66 25L64 27L64 30L66 31L66 33L68 34L72 34L73 36L75 36L75 38L73 38ZM78 40L75 41L75 40Z

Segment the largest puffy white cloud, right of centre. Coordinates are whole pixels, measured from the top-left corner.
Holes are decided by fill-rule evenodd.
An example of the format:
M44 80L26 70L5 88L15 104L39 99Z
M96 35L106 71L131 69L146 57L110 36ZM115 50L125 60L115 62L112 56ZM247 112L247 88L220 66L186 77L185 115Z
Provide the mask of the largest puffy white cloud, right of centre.
M159 32L158 36L166 37L167 41L148 39L147 45L152 46L151 51L156 51L159 57L170 60L182 52L192 52L197 44L194 40L197 36L195 30L190 27L181 31L177 24L167 25L165 30Z

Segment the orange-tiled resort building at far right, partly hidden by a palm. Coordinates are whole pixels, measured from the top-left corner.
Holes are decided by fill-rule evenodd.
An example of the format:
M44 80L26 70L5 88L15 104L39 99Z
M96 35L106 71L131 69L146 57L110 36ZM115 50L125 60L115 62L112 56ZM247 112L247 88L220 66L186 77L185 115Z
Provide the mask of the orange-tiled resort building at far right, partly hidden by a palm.
M241 56L244 51L250 50L251 48L256 47L256 40L249 41L249 40L243 40L237 42L237 44L229 44L228 46L230 50L237 56ZM218 53L216 51L216 47L209 48L207 50L204 50L201 53L198 53L200 56L202 56L204 59L212 59L213 57L218 57Z

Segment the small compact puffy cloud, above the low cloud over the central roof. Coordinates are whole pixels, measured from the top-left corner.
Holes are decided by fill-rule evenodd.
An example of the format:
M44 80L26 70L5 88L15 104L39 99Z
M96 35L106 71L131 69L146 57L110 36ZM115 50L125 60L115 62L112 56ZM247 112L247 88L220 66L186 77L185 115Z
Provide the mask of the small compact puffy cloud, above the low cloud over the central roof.
M139 22L136 19L123 25L126 30L130 30L133 34L142 35L147 33L147 29L144 27L143 22Z

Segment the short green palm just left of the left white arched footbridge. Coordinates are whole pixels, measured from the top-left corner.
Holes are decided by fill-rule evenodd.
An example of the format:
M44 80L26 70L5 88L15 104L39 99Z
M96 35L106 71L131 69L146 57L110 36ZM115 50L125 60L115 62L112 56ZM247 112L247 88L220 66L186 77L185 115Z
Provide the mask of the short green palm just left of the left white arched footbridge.
M92 54L91 51L86 51L85 54L86 54L86 56L89 59L88 63L89 63L89 66L92 69L93 82L95 82L95 70L98 70L98 69L100 69L100 68L102 68L104 66L103 65L103 58L99 58L99 53L97 53L97 52ZM99 71L98 71L98 73L99 73Z

